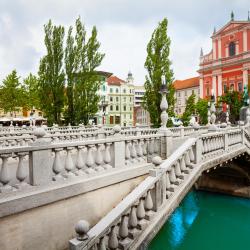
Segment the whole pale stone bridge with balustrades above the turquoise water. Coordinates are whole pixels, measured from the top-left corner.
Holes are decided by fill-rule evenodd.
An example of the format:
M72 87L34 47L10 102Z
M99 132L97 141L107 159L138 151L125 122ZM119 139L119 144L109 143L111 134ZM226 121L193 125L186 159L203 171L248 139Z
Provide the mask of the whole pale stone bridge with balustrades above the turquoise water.
M250 155L249 123L214 132L79 126L0 134L7 250L143 249L190 188L202 188L200 176ZM233 168L249 180L246 166Z

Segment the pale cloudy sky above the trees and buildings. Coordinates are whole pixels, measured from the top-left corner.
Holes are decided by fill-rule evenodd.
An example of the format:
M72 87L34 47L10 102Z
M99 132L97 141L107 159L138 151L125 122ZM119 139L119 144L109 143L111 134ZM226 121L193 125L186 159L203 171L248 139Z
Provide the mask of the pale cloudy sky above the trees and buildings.
M214 26L246 20L249 0L0 0L0 80L13 69L25 77L36 73L45 53L43 25L74 25L80 15L88 31L98 30L106 54L100 70L144 83L146 46L164 17L169 20L175 79L197 75L200 48L211 49Z

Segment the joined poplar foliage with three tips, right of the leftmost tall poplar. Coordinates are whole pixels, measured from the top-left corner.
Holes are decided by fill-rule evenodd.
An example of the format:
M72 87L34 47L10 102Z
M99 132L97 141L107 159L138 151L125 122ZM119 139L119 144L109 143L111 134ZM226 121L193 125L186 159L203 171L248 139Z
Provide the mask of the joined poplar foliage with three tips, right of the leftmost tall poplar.
M98 111L100 77L96 68L100 66L104 54L99 52L97 29L93 27L87 40L86 30L81 19L76 20L76 35L69 29L65 50L65 67L67 75L67 115L72 124L89 119Z

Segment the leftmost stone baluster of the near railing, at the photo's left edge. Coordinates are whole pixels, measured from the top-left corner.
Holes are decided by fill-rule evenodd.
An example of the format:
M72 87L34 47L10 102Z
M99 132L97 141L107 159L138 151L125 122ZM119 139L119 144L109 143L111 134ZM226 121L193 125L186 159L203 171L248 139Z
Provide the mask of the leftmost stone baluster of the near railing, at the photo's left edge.
M0 171L0 183L3 184L2 187L0 187L0 192L8 192L12 190L12 187L9 185L9 182L11 181L9 166L8 166L8 158L11 157L10 154L3 154L0 156L2 159L2 167Z

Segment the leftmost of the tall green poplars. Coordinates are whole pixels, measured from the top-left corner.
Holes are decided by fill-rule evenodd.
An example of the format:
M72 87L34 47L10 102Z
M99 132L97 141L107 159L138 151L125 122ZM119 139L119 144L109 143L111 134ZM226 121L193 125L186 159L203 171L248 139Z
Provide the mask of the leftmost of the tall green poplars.
M63 69L64 28L54 26L51 20L44 26L47 54L40 60L38 91L41 110L48 124L61 123L64 108L65 74Z

